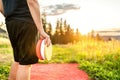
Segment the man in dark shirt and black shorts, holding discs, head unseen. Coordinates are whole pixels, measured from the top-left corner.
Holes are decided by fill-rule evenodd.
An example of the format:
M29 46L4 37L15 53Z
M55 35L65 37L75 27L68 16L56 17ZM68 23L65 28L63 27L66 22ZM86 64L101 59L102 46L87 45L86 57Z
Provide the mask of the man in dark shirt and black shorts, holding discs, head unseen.
M37 31L51 40L44 32L38 0L0 0L0 12L6 18L6 26L14 52L9 80L30 80L31 64L38 62L35 54Z

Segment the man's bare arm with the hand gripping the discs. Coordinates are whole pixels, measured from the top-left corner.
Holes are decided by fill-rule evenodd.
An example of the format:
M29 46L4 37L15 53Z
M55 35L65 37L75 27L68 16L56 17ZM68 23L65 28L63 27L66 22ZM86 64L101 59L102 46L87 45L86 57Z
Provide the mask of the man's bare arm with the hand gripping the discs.
M47 45L49 46L51 41L50 37L44 32L43 25L42 25L42 18L40 15L40 6L38 0L27 0L27 4L32 15L32 18L40 32L40 35L45 38Z

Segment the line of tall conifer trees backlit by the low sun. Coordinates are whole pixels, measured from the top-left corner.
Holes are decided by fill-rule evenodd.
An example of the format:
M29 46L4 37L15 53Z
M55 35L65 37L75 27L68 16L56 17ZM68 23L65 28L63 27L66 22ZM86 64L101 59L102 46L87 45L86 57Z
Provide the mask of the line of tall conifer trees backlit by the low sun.
M78 29L74 32L70 24L67 24L66 20L58 19L56 21L56 27L53 29L51 23L46 21L46 16L42 18L43 28L45 32L50 36L52 44L67 44L80 40L81 34Z

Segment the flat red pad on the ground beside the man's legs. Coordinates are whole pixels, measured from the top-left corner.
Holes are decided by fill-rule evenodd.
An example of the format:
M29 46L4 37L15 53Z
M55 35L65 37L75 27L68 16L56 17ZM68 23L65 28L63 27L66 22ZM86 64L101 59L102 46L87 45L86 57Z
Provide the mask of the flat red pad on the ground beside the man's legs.
M78 64L35 64L31 80L89 80L87 74L77 67Z

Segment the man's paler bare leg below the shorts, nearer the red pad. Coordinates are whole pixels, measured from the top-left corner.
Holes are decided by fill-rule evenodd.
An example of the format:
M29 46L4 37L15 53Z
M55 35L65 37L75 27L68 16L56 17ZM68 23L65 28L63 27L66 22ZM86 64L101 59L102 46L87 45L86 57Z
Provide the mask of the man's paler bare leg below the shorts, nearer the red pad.
M19 65L16 80L30 80L31 65Z

